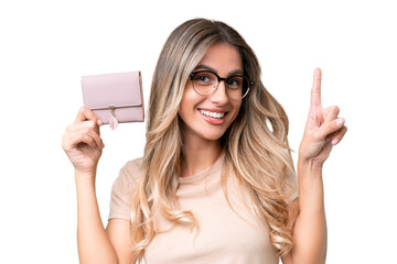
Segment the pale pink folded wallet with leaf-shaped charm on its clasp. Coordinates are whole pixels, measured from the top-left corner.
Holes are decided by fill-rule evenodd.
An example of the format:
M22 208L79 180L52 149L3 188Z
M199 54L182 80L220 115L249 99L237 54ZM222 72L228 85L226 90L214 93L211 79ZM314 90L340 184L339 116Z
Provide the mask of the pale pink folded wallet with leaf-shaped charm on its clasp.
M84 106L112 130L144 120L140 72L83 76L82 88Z

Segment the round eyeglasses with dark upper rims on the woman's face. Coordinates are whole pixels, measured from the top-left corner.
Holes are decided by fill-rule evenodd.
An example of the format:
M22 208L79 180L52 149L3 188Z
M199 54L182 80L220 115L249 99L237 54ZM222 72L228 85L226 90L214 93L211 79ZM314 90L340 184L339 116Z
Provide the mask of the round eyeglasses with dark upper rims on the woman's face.
M226 94L234 100L240 100L247 96L249 88L255 85L254 81L243 75L233 75L227 78L221 78L211 70L198 70L190 74L193 89L201 96L211 96L216 91L222 80L225 81Z

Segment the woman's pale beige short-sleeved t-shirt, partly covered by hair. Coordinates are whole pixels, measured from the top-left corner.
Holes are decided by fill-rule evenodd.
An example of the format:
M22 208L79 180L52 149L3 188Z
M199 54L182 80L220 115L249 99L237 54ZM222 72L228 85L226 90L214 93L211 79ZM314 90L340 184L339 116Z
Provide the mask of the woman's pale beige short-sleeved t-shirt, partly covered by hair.
M194 239L189 228L172 227L161 216L157 217L158 229L171 229L157 234L147 248L147 264L279 263L277 251L269 240L268 227L254 215L253 208L246 206L251 205L249 198L237 188L234 177L228 180L228 198L238 215L228 206L221 183L223 162L224 155L206 169L187 178L180 178L176 191L179 205L181 209L194 213L200 228L198 234ZM140 164L139 158L128 162L121 168L111 190L109 219L130 220L133 217L129 193L135 189ZM294 182L291 178L291 183Z

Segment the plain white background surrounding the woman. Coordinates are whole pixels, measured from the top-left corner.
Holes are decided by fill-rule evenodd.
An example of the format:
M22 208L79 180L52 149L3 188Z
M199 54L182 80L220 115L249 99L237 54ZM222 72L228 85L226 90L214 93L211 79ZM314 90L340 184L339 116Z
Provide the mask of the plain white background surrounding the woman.
M257 1L259 2L259 1ZM2 1L0 263L78 263L73 167L61 147L83 105L81 76L140 69L144 100L165 38L222 20L256 52L298 151L313 69L348 132L324 168L328 263L397 263L397 9L393 1ZM101 128L97 195L142 155L144 123ZM297 158L297 155L294 155Z

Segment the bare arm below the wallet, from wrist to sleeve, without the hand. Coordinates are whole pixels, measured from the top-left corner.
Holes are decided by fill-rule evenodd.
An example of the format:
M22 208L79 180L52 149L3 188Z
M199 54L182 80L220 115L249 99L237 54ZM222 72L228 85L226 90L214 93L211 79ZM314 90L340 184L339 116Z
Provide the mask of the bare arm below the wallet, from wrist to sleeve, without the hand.
M77 242L81 263L119 263L133 261L131 223L110 219L104 229L95 195L94 177L76 175Z

